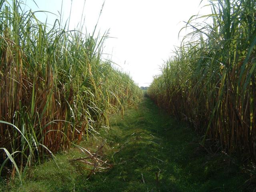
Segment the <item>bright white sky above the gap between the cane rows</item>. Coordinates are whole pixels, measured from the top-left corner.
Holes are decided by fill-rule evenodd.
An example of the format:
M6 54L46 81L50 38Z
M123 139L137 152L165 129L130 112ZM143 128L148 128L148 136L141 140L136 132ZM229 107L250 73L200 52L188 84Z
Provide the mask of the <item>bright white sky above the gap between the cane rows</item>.
M61 11L62 0L24 1L33 10L55 13ZM88 32L92 32L98 20L104 0L86 0L84 16ZM202 8L201 0L105 0L98 23L103 34L110 29L105 42L105 54L112 54L112 60L128 72L139 86L148 86L153 76L160 73L160 66L178 46L178 33L184 21L192 15L208 14L210 8ZM207 4L207 0L203 1ZM81 20L84 0L73 0L69 29L75 28ZM71 0L63 0L62 12L65 21L70 13ZM39 13L41 21L48 17L52 23L56 16ZM185 31L184 31L185 33ZM183 34L184 34L183 33Z

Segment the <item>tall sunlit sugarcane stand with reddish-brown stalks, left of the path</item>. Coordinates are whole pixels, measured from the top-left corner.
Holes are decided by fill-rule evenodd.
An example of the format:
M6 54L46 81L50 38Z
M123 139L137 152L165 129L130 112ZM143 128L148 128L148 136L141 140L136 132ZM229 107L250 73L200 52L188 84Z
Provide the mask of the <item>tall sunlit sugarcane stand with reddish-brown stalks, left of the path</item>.
M44 155L98 134L108 118L136 106L140 88L102 60L107 34L52 28L0 0L0 175L26 175Z

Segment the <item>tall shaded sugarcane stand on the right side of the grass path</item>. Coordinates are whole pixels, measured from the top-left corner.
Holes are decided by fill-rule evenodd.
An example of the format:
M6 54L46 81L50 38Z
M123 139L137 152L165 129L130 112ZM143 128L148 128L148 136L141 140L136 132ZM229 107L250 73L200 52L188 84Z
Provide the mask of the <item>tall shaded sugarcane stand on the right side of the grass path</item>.
M162 66L148 94L191 122L216 149L256 160L256 0L209 1L211 22L193 32ZM215 142L213 142L215 141Z

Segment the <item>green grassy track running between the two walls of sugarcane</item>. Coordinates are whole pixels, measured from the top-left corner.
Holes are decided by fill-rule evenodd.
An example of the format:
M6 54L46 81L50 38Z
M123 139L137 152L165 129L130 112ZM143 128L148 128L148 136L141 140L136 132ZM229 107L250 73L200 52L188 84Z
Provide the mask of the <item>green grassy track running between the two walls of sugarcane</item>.
M112 118L112 128L102 137L111 149L104 153L112 169L86 180L88 172L67 162L75 156L68 152L58 158L60 169L53 162L36 168L25 191L242 191L246 180L224 155L206 152L186 124L170 120L148 98L137 110L127 110L123 120Z

